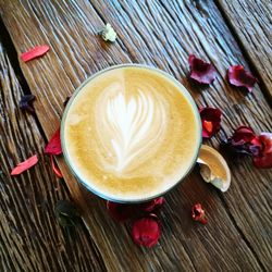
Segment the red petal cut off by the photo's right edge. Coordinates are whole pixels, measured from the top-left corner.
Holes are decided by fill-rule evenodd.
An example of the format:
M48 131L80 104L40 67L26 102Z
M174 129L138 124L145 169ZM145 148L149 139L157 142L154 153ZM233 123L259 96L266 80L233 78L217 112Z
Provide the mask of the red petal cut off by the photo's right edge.
M261 143L262 149L254 158L255 166L261 169L272 168L272 133L261 133L258 140Z

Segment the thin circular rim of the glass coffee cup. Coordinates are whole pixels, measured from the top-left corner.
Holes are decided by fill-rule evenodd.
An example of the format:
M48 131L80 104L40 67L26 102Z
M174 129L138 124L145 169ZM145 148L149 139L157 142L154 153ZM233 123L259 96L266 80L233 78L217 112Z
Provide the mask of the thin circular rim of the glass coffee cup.
M176 84L178 86L178 90L185 96L185 98L189 101L193 111L196 115L196 120L197 120L197 126L198 126L198 137L197 137L197 148L196 148L196 153L194 156L194 158L191 159L191 164L188 168L188 170L184 173L184 175L176 181L175 183L173 183L170 187L168 187L165 190L157 194L157 195L152 195L150 197L146 197L146 198L138 198L138 199L127 199L127 198L114 198L112 196L107 196L107 194L103 194L99 190L97 190L96 188L94 188L92 186L90 186L88 184L87 181L84 181L84 178L82 176L79 176L79 174L76 172L76 170L74 169L75 166L72 163L72 160L69 156L67 149L66 149L66 145L65 145L65 137L64 137L64 127L65 127L65 121L66 121L66 116L70 110L70 107L72 106L73 101L75 100L75 98L77 97L77 95L81 92L81 90L89 83L91 82L94 78L96 78L97 76L109 72L111 70L115 70L115 69L123 69L123 67L139 67L139 69L147 69L147 70L151 70L154 71L163 76L165 76L166 78L169 78L170 81L172 81L174 84ZM92 74L91 76L89 76L88 78L86 78L74 91L74 94L71 96L67 104L65 106L63 115L62 115L62 120L61 120L61 146L62 146L62 151L63 151L63 158L64 161L66 162L67 166L70 168L70 170L72 171L73 175L76 177L76 180L84 185L85 188L87 188L90 193L94 193L95 195L97 195L98 197L104 199L104 200L109 200L109 201L114 201L114 202L120 202L120 203L140 203L140 202L146 202L149 200L152 200L154 198L158 198L162 195L165 195L166 193L169 193L170 190L172 190L175 186L177 186L180 183L182 183L184 181L184 178L191 172L193 168L195 166L196 162L197 162L197 158L200 151L200 147L202 144L202 135L201 135L201 120L200 120L200 115L199 115L199 111L198 108L196 106L195 100L193 99L191 95L189 94L189 91L184 87L184 85L182 85L176 78L174 78L174 76L170 75L169 73L153 67L153 66L149 66L146 64L138 64L138 63L124 63L124 64L118 64L118 65L112 65L109 66L107 69L100 70L98 72L96 72L95 74Z

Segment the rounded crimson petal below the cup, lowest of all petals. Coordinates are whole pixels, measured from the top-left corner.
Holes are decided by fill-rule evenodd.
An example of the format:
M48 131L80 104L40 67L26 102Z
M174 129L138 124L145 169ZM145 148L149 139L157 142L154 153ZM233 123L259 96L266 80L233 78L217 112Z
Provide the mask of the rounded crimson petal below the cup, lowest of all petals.
M161 236L161 226L154 214L138 219L134 222L132 236L135 244L145 247L157 245Z

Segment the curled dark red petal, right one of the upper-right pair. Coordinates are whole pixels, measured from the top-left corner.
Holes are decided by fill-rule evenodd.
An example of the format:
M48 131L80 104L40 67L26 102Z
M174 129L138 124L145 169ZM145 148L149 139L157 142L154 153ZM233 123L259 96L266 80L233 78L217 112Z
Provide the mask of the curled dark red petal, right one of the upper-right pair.
M234 65L228 69L228 81L234 86L246 87L248 91L251 91L258 82L257 78L242 65Z

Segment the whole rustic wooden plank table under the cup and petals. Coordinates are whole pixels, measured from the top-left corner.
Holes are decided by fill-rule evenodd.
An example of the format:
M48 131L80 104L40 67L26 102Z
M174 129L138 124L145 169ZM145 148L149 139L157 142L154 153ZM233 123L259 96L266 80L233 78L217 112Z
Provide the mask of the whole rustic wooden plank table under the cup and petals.
M223 111L210 146L218 148L242 124L271 132L271 11L268 0L0 0L0 271L271 271L271 169L255 169L247 158L228 161L233 178L225 194L193 171L165 196L162 237L147 249L132 242L129 223L114 222L104 201L78 185L62 158L64 180L58 180L42 152L65 98L95 72L128 62L166 71L199 107ZM107 22L118 32L114 44L96 35ZM41 59L18 59L42 44L51 50ZM217 67L209 87L188 79L190 53ZM227 83L233 64L258 77L252 94ZM34 115L18 109L25 94L37 97ZM34 153L39 163L11 177ZM73 232L55 220L60 199L84 210ZM190 218L196 202L206 208L207 225Z

